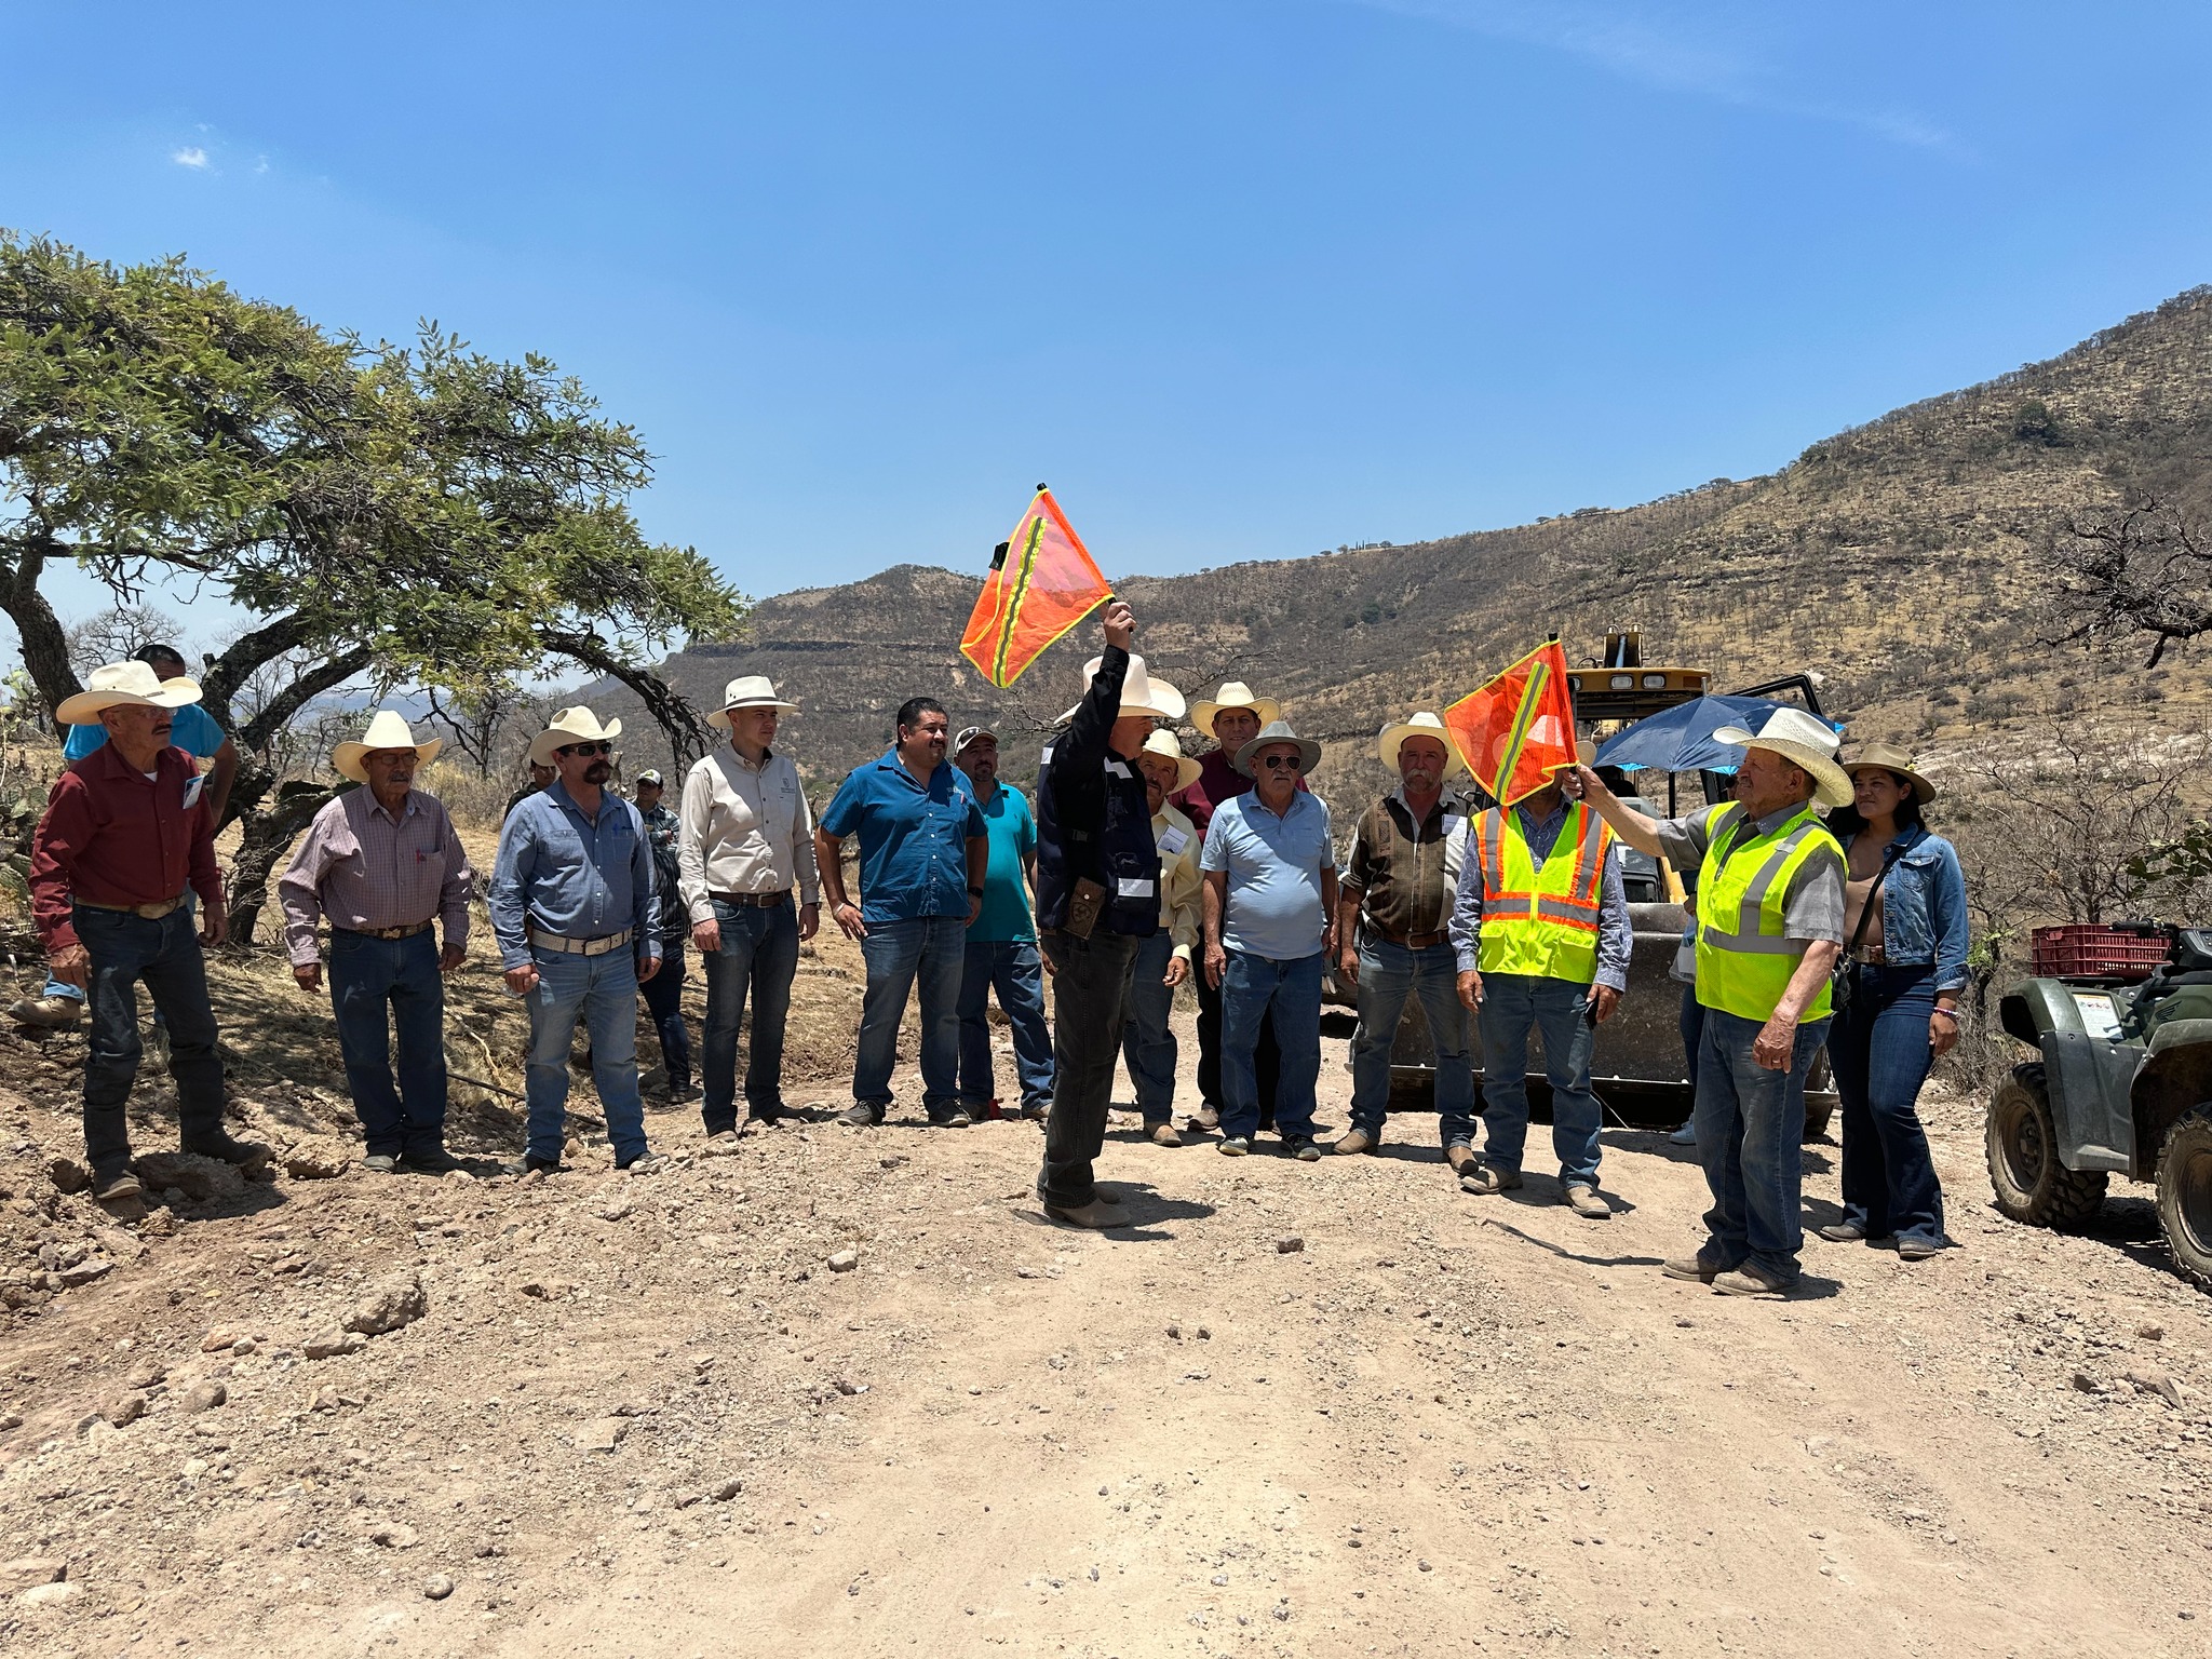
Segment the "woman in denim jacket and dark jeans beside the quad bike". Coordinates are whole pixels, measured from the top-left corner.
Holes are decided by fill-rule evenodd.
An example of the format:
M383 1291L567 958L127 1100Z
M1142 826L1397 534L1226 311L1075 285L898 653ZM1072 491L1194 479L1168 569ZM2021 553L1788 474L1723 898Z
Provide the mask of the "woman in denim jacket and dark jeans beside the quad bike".
M1827 1062L1843 1097L1843 1221L1836 1243L1896 1239L1905 1261L1944 1248L1942 1186L1920 1126L1920 1086L1958 1042L1966 991L1966 878L1920 810L1936 785L1905 750L1867 743L1843 761L1856 799L1827 818L1847 863L1843 936L1851 998L1838 998Z

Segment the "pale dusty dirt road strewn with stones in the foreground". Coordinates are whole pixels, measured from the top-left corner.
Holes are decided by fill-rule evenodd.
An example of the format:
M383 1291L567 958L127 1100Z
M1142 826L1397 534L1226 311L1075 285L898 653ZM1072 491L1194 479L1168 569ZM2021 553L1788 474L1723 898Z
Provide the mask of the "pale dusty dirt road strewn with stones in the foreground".
M1340 1062L1332 1040L1334 1121ZM9 1214L122 1259L40 1186L53 1106L0 1097ZM1933 1117L1962 1248L1814 1239L1783 1305L1657 1274L1703 1186L1632 1130L1606 1137L1610 1223L1544 1175L1464 1197L1433 1119L1318 1166L1117 1130L1102 1172L1137 1225L1108 1237L1042 1221L1024 1124L184 1203L0 1338L7 1553L80 1586L0 1606L0 1641L2212 1650L2212 1303L2139 1197L2095 1237L1997 1221L1978 1113ZM655 1135L699 1144L690 1110ZM1834 1146L1807 1168L1832 1219ZM394 1274L420 1318L305 1356Z

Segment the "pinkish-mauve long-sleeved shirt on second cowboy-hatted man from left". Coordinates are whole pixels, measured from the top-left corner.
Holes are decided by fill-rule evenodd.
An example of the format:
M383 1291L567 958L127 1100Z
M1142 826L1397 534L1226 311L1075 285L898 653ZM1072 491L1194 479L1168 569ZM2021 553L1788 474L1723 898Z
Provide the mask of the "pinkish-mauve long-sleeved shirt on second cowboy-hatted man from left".
M438 916L445 942L467 945L473 885L469 854L438 796L409 790L394 818L367 787L347 790L314 814L276 883L292 967L319 960L316 916L354 931Z

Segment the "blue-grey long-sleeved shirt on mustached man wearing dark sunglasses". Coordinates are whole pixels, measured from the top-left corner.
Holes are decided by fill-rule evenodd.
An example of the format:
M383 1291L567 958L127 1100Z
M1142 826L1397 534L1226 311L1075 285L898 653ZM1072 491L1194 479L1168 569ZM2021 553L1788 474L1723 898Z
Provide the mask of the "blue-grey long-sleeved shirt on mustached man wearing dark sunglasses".
M653 845L637 807L615 794L599 794L597 818L584 816L560 779L522 796L500 830L489 902L502 967L529 964L533 927L560 938L606 938L628 927L641 958L661 953Z

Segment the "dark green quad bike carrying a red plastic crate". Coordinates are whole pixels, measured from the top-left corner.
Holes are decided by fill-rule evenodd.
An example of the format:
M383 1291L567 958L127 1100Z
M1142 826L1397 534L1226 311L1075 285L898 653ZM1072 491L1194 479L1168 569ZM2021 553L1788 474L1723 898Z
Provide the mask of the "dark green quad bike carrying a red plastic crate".
M2212 929L2121 927L2168 938L2141 984L2037 978L2000 1002L2042 1057L1989 1104L1989 1183L2013 1221L2079 1228L2112 1175L2154 1181L2174 1267L2212 1290Z

